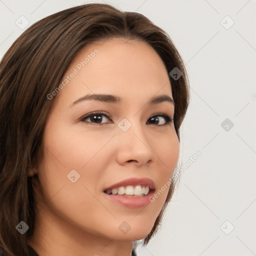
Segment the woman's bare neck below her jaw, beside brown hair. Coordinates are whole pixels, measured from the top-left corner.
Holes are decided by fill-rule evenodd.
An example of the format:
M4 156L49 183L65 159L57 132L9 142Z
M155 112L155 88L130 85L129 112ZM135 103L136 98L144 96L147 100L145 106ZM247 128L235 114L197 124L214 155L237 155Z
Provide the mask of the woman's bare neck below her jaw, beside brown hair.
M39 256L130 256L132 241L115 240L100 234L84 231L60 219L35 220L34 231L27 243Z

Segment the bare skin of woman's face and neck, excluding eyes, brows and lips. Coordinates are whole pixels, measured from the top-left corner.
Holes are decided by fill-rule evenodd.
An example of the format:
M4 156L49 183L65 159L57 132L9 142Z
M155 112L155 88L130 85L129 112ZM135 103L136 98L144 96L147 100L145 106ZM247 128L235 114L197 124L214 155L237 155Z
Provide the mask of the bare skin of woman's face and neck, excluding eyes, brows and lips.
M99 51L95 57L51 99L42 162L29 173L37 172L39 182L35 229L28 244L40 256L129 256L132 241L152 229L167 189L147 206L129 208L107 200L103 188L130 177L148 177L158 191L178 161L173 122L165 126L164 118L158 122L149 118L155 113L174 114L171 102L147 104L152 96L173 98L158 54L145 42L112 38L82 48L64 77L95 48ZM86 100L70 106L93 93L114 94L123 102ZM100 115L102 123L81 121L97 110L111 117ZM125 132L117 125L123 118L131 123ZM80 174L74 183L66 176L71 169ZM122 221L131 226L127 233L118 228Z

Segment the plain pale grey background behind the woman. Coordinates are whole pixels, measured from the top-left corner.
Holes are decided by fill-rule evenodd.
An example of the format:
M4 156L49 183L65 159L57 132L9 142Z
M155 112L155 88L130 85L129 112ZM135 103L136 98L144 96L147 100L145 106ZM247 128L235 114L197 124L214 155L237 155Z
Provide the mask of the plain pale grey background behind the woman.
M103 1L0 0L0 58L35 21L87 2ZM180 143L180 160L189 166L161 229L138 255L256 255L256 0L107 3L165 29L191 87ZM15 23L21 15L29 21L24 29Z

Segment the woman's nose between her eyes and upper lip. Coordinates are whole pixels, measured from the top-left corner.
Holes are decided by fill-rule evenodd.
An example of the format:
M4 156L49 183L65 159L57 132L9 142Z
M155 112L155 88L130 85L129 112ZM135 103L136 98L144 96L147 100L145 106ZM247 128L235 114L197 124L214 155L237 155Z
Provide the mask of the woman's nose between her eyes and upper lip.
M121 125L117 127L116 160L119 164L132 163L141 166L155 160L156 155L151 146L150 137L143 129L138 120L132 121L126 131L122 129Z

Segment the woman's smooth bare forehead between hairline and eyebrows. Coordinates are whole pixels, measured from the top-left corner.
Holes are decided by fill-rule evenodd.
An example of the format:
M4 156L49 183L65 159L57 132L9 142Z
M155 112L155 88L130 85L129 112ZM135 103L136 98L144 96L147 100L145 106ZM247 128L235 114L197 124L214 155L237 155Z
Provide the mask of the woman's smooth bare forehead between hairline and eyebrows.
M112 38L88 44L73 58L62 81L66 76L72 78L59 96L68 102L81 93L112 93L120 97L132 94L133 100L136 96L148 99L158 91L172 96L163 61L140 40Z

